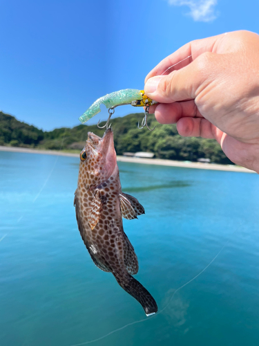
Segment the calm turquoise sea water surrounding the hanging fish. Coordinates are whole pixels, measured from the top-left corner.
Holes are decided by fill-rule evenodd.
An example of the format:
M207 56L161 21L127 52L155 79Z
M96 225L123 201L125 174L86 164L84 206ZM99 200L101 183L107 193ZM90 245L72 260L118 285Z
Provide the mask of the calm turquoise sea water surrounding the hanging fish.
M258 345L258 175L119 163L146 209L124 221L136 278L160 311L168 304L148 319L81 241L77 165L0 152L1 346L76 345L143 319L92 345Z

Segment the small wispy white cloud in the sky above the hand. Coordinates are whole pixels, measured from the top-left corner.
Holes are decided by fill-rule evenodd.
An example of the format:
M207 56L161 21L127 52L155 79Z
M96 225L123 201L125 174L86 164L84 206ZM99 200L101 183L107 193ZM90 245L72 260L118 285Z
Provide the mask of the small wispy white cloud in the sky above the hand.
M194 21L213 21L216 18L214 9L218 0L167 0L169 5L189 6Z

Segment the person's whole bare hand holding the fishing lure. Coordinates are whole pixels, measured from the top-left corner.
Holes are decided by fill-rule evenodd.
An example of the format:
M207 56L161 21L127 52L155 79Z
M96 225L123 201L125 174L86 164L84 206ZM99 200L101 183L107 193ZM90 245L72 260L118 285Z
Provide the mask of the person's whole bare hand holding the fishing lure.
M189 42L148 73L145 93L160 102L150 108L158 122L176 123L181 136L214 138L233 163L259 173L257 34Z

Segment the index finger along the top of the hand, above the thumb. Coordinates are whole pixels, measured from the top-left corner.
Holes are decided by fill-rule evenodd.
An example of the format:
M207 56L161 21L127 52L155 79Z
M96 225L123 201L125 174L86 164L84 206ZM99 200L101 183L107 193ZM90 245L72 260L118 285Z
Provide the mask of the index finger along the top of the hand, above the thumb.
M216 42L222 38L224 34L208 37L206 39L196 39L187 44L184 44L178 51L169 55L162 60L153 70L151 70L145 78L146 81L155 75L168 75L172 71L180 70L187 66L199 55L204 52L215 52Z

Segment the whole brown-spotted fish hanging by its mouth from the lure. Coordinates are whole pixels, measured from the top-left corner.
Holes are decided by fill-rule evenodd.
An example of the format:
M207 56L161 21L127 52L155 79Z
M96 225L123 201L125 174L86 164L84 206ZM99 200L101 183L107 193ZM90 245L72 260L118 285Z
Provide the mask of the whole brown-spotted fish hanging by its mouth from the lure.
M102 138L88 132L80 154L74 204L79 232L96 266L113 273L118 284L142 304L146 316L156 313L154 298L132 276L139 266L122 217L135 219L144 214L144 208L122 193L112 129Z

